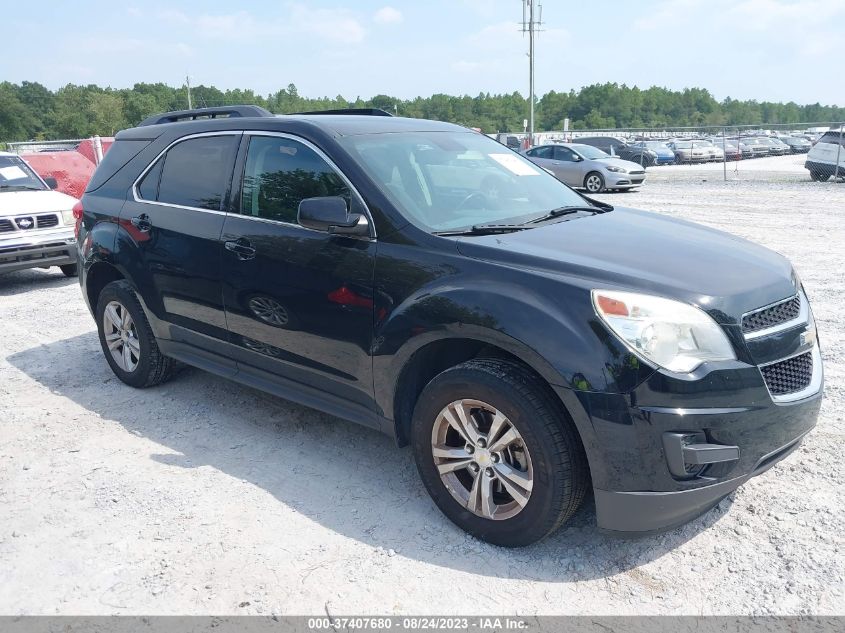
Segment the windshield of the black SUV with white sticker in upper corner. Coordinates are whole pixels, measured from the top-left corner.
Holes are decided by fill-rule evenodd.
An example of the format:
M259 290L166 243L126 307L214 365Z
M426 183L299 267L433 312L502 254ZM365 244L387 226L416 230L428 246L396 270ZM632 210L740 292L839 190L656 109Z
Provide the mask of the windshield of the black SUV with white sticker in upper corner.
M428 231L522 223L585 205L545 170L475 132L364 134L340 142L390 201Z

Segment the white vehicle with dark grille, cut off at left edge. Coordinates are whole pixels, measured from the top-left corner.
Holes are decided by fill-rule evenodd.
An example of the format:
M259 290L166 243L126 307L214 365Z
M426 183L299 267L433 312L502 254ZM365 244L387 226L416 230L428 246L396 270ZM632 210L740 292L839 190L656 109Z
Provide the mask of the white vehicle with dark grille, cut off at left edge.
M16 155L0 152L0 273L58 266L76 275L73 205Z

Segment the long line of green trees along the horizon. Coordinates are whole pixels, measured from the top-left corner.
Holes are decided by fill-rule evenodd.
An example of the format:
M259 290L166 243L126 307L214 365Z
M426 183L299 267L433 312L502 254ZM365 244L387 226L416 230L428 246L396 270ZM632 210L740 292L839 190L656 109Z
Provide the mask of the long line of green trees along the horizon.
M296 86L269 95L252 90L219 90L213 86L191 88L194 107L255 104L274 113L331 108L382 108L401 116L437 119L481 128L486 133L521 131L528 102L519 92L481 93L397 99L376 95L350 101L309 98ZM101 88L68 84L52 91L37 82L0 83L0 141L111 136L157 112L187 107L185 86L138 83L132 88ZM551 91L535 105L535 130L560 130L565 118L571 129L614 127L687 127L709 125L789 124L842 121L845 107L818 103L771 103L727 98L717 101L701 88L641 90L616 83L594 84L569 92Z

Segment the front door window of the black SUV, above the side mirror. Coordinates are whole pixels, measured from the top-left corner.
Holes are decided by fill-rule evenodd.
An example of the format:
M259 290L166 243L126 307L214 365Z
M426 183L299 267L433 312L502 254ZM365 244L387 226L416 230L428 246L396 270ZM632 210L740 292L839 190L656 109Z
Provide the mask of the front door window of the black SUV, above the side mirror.
M337 172L307 145L276 136L250 139L241 198L244 215L295 224L299 203L316 196L342 196L347 204L351 199Z

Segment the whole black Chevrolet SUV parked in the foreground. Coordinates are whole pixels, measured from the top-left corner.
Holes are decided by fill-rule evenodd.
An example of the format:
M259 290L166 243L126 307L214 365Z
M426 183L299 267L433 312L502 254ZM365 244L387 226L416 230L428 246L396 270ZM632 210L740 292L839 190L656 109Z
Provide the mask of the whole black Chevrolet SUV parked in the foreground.
M379 429L452 521L507 546L590 488L605 530L681 524L813 427L816 327L786 259L374 114L118 134L78 256L122 381L187 363Z

